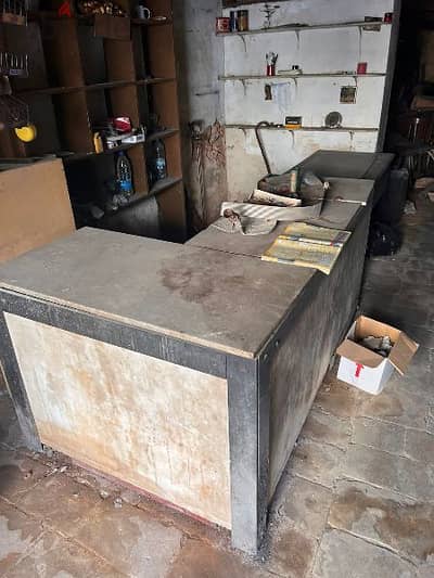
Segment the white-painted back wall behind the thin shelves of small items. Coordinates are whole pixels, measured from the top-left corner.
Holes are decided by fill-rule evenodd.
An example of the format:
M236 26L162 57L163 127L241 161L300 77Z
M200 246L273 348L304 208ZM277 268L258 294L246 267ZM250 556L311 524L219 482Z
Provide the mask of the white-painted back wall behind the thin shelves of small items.
M290 0L279 2L272 26L282 24L332 24L360 22L365 16L393 12L394 0ZM241 7L248 10L250 28L261 28L264 4ZM229 11L225 11L228 14ZM380 31L359 27L273 31L259 35L233 35L220 38L225 53L224 76L264 75L265 54L279 54L278 70L298 64L305 74L355 70L358 62L368 62L368 73L391 75L390 44L396 35L393 26ZM283 85L279 97L265 100L265 84ZM355 104L341 104L343 86L356 86ZM385 91L386 76L317 77L286 79L230 79L221 81L221 103L226 125L255 126L260 120L283 123L286 115L303 116L303 125L322 127L331 111L343 116L343 126L357 131L263 131L275 172L288 170L318 149L374 151ZM265 175L266 168L254 130L229 128L226 131L227 172L230 198L244 198Z

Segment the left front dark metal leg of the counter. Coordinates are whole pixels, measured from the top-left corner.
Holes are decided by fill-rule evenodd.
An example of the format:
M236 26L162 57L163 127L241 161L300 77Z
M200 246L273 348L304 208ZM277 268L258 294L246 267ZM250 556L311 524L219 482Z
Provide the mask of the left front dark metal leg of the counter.
M0 359L26 446L34 451L40 451L41 441L3 312L0 312Z

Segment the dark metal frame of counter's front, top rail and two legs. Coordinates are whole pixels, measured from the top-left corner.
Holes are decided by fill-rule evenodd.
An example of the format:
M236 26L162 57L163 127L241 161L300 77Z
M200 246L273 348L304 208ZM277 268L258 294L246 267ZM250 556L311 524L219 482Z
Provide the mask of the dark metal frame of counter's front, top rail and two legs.
M268 355L246 359L0 288L0 360L27 446L40 451L30 403L4 313L227 378L232 544L257 553L265 534L269 481Z

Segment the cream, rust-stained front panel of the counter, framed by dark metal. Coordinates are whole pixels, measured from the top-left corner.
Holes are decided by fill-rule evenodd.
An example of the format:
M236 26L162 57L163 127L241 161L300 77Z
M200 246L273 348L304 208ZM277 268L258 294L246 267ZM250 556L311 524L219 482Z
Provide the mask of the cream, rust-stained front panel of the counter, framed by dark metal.
M226 380L7 313L41 440L230 527Z

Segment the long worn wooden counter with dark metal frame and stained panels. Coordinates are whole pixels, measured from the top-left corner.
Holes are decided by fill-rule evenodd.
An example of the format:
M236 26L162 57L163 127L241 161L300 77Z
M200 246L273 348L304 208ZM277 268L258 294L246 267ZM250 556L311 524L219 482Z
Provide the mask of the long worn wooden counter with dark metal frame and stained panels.
M337 181L333 194L368 205L326 204L321 219L353 230L330 275L260 261L278 231L214 228L187 245L81 229L0 267L2 362L28 445L257 551L357 305L372 181Z

